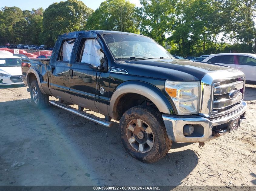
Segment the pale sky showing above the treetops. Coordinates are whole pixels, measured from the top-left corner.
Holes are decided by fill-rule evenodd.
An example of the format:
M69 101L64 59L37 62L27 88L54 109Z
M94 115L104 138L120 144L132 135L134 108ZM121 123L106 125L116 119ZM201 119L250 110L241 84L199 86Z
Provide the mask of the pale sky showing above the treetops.
M65 1L65 0L62 0ZM85 5L93 10L96 10L101 2L105 1L105 0L81 0L82 2L85 3ZM136 6L140 5L140 1L139 0L129 0L131 3L134 3ZM1 0L0 1L0 8L2 7L13 7L16 6L18 8L21 8L22 10L28 9L28 10L32 10L32 8L37 9L39 7L42 7L44 10L51 5L52 3L55 2L61 2L61 0L42 0L42 1L37 1L37 0L9 0L9 1L4 1Z

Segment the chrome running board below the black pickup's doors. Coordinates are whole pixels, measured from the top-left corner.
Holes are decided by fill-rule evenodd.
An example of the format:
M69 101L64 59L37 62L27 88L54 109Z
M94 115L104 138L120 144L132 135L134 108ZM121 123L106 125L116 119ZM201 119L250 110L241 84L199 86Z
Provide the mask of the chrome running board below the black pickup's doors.
M94 122L94 123L98 123L99 125L103 125L103 126L106 126L106 127L111 127L112 126L112 122L110 122L110 121L106 121L106 120L104 120L104 119L101 119L101 118L99 118L99 117L97 117L97 116L94 116L94 115L91 115L91 114L89 114L89 113L86 113L86 112L84 112L84 111L79 111L79 110L76 110L76 109L74 109L74 108L68 108L67 106L63 106L63 105L60 105L58 102L56 102L56 101L50 101L50 103L52 104L52 105L54 105L54 106L57 106L57 107L60 107L60 108L62 108L62 109L64 109L64 110L67 110L67 111L69 111L69 112L71 112L71 113L74 113L74 114L76 114L76 115L78 115L78 116L81 116L81 117L83 117L83 118L85 118L85 119L88 119L88 120L90 120L90 121L92 121L92 122Z

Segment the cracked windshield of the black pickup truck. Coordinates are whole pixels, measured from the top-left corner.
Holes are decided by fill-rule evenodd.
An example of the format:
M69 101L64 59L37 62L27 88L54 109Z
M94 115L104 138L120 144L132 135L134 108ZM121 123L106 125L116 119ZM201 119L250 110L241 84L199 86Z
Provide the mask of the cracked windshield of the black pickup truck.
M129 34L105 34L105 42L116 59L121 58L171 58L170 53L153 39Z

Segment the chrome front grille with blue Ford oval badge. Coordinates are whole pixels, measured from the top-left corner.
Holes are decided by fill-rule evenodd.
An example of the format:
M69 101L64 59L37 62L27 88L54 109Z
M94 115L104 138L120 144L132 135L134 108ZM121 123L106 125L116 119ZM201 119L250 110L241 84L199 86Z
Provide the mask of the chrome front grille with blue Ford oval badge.
M236 97L232 99L231 91L235 91ZM231 110L243 100L244 78L231 79L214 83L213 102L211 114L218 114ZM231 94L231 95L230 95Z

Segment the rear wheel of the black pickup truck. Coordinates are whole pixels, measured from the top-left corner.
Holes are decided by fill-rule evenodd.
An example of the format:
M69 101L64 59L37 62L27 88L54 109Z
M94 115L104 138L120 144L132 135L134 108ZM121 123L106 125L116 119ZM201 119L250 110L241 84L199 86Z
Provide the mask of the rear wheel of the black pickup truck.
M32 81L30 85L30 97L33 105L38 108L45 108L49 105L49 95L43 94L38 86L38 82Z

